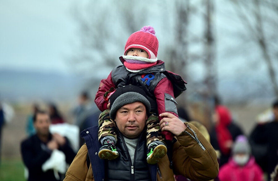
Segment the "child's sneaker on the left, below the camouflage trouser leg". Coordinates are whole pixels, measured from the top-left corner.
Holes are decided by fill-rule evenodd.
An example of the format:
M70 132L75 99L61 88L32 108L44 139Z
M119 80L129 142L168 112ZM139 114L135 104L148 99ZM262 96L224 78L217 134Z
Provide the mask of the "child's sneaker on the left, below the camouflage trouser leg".
M117 152L116 146L112 143L105 143L99 149L100 159L114 160L118 157L119 157L119 153Z

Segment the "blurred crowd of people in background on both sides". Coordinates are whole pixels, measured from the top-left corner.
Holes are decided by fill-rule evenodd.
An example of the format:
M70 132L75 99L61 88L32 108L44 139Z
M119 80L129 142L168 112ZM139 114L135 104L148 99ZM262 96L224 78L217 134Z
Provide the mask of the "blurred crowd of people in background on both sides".
M207 130L200 121L192 120L184 107L178 107L179 117L192 122L210 141L217 152L219 174L214 180L223 181L277 181L278 173L278 99L270 111L260 115L249 135L235 121L230 110L217 97L212 114L213 126ZM11 108L0 103L0 149L1 131L8 121ZM7 111L5 111L7 110ZM5 118L6 112L6 118ZM21 143L25 165L25 177L37 180L62 180L67 166L73 161L78 149L84 144L80 131L98 125L100 111L87 92L78 97L78 105L71 110L74 124L69 124L55 103L47 110L33 104L27 116L28 138ZM52 178L53 177L53 178ZM30 179L31 178L31 179ZM177 181L187 180L176 175Z

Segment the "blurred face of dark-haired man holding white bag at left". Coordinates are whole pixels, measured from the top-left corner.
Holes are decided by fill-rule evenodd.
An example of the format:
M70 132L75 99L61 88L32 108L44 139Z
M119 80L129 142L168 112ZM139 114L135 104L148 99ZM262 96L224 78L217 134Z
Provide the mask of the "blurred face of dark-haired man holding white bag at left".
M51 124L48 114L38 113L36 116L36 121L34 122L34 127L36 132L40 136L47 136L49 134L49 125Z

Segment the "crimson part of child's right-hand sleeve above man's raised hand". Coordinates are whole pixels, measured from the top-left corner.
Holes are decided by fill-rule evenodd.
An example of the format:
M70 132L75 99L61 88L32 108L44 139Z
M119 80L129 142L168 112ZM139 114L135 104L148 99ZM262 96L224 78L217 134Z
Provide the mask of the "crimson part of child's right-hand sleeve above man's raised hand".
M161 114L163 112L170 112L165 110L165 95L164 93L167 93L171 95L174 98L174 89L172 82L168 78L163 78L160 82L158 82L158 85L154 89L154 96L156 98L156 103L158 107L158 114ZM170 112L178 117L178 115L175 112ZM162 118L159 117L159 120Z

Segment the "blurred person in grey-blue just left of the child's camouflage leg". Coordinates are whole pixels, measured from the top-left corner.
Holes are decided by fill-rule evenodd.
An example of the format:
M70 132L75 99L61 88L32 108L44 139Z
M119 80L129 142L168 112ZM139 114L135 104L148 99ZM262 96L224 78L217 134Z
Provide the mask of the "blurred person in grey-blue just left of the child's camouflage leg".
M91 101L89 93L83 91L78 97L78 106L74 108L73 114L75 116L74 124L78 126L79 130L82 131L86 128L98 125L95 120L99 119L99 109L96 107L94 101ZM85 141L80 137L80 147Z

